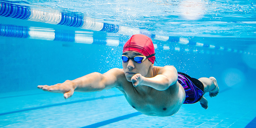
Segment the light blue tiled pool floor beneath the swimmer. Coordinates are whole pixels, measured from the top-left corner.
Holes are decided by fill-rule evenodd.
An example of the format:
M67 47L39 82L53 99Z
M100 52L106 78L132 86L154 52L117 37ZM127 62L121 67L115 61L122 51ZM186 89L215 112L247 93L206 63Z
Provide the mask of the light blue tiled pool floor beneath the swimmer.
M30 90L0 94L3 128L244 128L256 116L255 87L226 88L208 100L184 104L169 117L146 116L134 110L117 89L75 94ZM91 125L92 124L92 125Z

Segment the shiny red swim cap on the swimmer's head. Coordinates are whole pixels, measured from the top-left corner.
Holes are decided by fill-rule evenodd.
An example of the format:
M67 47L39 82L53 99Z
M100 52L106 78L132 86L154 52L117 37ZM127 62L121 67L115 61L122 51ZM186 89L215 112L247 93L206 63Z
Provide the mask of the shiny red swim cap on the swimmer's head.
M145 35L136 34L124 44L123 53L126 51L135 51L140 52L144 56L149 56L155 53L155 48L152 43L152 40ZM156 60L155 56L148 58L154 64Z

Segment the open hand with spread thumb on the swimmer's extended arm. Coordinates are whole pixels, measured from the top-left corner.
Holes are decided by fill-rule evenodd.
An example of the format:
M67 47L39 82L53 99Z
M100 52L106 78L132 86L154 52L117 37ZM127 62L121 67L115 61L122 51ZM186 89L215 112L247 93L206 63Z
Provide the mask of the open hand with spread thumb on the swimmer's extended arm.
M47 91L47 92L64 93L65 99L68 99L69 97L71 97L75 90L74 83L71 82L70 80L66 80L64 83L55 84L52 86L38 85L37 88L43 89L44 91Z

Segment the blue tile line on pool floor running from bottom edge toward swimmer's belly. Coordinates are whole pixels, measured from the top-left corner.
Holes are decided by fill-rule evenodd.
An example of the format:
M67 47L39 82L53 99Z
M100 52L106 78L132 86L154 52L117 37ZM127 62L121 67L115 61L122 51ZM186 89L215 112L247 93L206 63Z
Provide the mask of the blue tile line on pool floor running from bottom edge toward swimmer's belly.
M98 123L95 123L95 124L90 124L90 125L87 125L87 126L84 126L84 127L81 127L81 128L97 128L97 127L101 127L101 126L104 126L104 125L107 125L107 124L118 122L118 121L121 121L121 120L124 120L124 119L128 119L128 118L131 118L131 117L134 117L134 116L139 116L141 114L142 113L140 113L140 112L134 112L134 113L127 114L127 115L124 115L124 116L118 116L116 118L101 121L101 122L98 122Z

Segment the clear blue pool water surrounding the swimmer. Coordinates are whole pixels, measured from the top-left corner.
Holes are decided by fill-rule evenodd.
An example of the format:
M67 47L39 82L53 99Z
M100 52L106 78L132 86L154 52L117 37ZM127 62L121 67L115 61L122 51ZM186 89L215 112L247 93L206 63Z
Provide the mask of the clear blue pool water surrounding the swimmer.
M214 76L220 93L213 98L204 95L209 106L206 110L199 103L184 104L169 117L137 112L115 88L75 92L65 100L60 93L44 92L36 86L122 68L122 46L130 36L1 16L0 127L255 127L255 1L194 1L193 6L185 0L4 2L72 12L159 36L186 38L188 44L153 39L157 44L155 65L173 65L179 72L195 78ZM196 9L196 15L185 15L184 11L189 9L182 5L192 6L192 10L195 6L199 10ZM60 36L62 40L58 41L35 39L31 35L30 38L6 36L6 26L13 25L27 27L30 31L30 28L42 28L67 35ZM16 30L10 31L18 33ZM75 43L74 35L81 31L86 33L85 36L93 37L94 42ZM64 37L68 40L64 41ZM118 40L119 44L108 46L104 42L106 39ZM196 46L195 42L208 46Z

